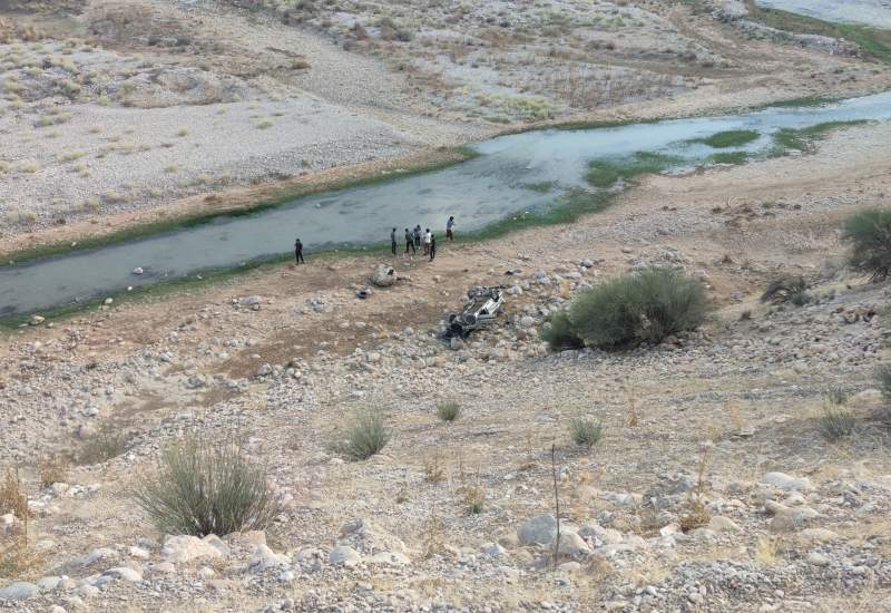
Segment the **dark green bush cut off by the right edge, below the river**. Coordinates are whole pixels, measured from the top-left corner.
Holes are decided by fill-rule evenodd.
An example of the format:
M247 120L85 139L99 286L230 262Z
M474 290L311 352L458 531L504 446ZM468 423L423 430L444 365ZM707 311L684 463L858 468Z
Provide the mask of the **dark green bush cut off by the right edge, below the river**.
M866 208L844 223L851 243L851 267L882 281L891 273L891 208Z

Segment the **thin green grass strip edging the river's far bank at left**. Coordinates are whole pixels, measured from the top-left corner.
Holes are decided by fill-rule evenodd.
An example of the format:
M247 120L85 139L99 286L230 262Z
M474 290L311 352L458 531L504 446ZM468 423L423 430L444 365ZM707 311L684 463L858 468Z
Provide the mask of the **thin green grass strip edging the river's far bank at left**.
M468 159L478 157L480 155L478 152L469 147L458 147L454 149L450 149L449 153L451 154L450 155L451 159L422 163L417 165L415 167L405 169L404 172L390 171L386 173L379 173L373 176L366 176L360 178L344 178L342 181L336 181L332 183L306 184L306 185L298 185L294 187L284 188L274 197L267 201L263 201L254 206L234 208L231 211L207 211L207 212L196 213L194 215L172 216L170 218L160 220L157 222L136 224L125 230L120 230L118 232L111 232L108 234L90 235L74 241L37 245L21 251L3 254L2 262L3 264L8 263L22 264L33 260L49 257L51 255L61 255L75 251L84 251L84 250L98 249L109 245L116 245L134 241L136 239L141 239L144 236L149 236L153 234L161 234L164 232L176 232L178 230L196 227L199 225L210 223L214 220L218 218L255 215L257 213L267 211L270 208L277 208L280 206L284 206L286 204L294 202L295 200L311 196L313 194L322 192L333 192L339 189L349 189L353 187L364 187L368 185L374 185L379 183L389 183L391 181L405 178L412 175L432 173L435 171L441 171L442 168L447 168L449 166L453 166L456 164L460 164L462 162L467 162ZM72 244L75 244L75 246L71 246ZM3 264L0 264L0 266L2 266Z

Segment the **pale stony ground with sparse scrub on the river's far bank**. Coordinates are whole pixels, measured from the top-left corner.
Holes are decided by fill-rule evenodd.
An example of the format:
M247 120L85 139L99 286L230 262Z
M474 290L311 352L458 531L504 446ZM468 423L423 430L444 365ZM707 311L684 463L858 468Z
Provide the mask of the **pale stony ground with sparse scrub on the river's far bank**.
M4 241L190 213L186 196L225 201L541 121L716 113L891 79L838 41L753 32L708 2L49 7L0 7Z

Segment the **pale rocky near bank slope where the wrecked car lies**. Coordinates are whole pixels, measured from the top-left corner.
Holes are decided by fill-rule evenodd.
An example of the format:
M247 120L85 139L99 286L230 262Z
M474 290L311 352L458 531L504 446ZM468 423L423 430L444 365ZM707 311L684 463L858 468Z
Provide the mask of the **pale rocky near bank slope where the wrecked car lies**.
M844 270L838 228L887 202L889 129L653 177L569 231L446 245L432 264L399 259L411 280L365 301L354 291L375 259L322 260L23 330L3 359L2 457L22 466L47 561L22 577L42 576L37 592L6 606L888 607L890 435L872 373L887 359L889 289ZM550 353L539 341L564 295L652 264L709 286L699 332L621 353ZM804 274L816 300L761 304L781 273ZM439 322L473 283L506 283L507 312L450 347ZM851 395L858 424L834 444L817 420L830 386ZM443 399L463 407L452 425L435 417ZM394 438L345 461L332 444L364 406L385 412ZM605 426L591 453L568 438L579 416ZM36 484L40 456L78 449L102 425L127 432L121 456ZM265 535L198 543L146 523L133 487L165 441L195 430L239 431L268 463L285 508ZM552 445L572 535L557 570ZM429 480L434 465L444 480ZM711 519L684 533L694 490Z

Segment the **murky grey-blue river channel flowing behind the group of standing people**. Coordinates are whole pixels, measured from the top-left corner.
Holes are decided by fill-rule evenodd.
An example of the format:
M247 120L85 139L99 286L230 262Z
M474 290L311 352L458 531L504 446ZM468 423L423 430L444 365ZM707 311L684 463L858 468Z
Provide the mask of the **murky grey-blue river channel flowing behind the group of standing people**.
M593 159L636 152L667 153L681 166L709 155L773 147L780 128L824 121L891 119L891 91L811 108L773 108L737 116L674 119L614 128L539 130L476 145L479 157L446 169L363 187L298 198L252 215L219 217L207 224L155 234L127 243L0 267L0 317L33 313L114 294L198 271L237 266L292 250L295 237L312 251L386 242L396 226L400 249L405 226L432 228L441 249L446 220L457 231L484 227L522 211L552 206L561 192L588 187ZM753 129L761 136L743 147L714 149L689 143L724 130ZM549 193L526 187L554 183ZM141 267L145 274L133 271Z

